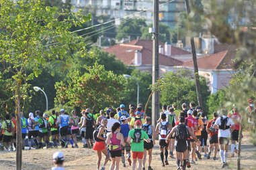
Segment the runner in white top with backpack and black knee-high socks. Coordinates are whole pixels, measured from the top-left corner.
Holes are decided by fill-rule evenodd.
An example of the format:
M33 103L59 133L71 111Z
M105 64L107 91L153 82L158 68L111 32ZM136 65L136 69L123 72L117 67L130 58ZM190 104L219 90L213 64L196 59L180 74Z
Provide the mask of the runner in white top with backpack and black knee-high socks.
M168 143L166 141L166 137L171 131L171 124L167 122L166 114L161 114L161 122L157 123L156 127L156 133L159 134L159 149L161 151L161 161L162 166L165 167L165 165L169 165L168 163ZM165 162L163 161L165 152Z

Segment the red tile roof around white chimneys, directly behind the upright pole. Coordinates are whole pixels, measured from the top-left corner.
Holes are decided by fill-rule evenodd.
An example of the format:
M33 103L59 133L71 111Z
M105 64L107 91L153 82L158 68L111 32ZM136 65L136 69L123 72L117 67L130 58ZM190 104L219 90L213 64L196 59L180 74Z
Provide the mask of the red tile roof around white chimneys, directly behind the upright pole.
M159 43L163 48L165 48L165 44L162 42ZM142 64L152 64L152 47L153 41L150 39L138 39L134 41L127 42L125 44L118 44L112 46L110 48L104 49L105 52L110 54L114 54L116 59L121 60L124 64L133 65L134 60L134 52L136 50L140 50L142 54ZM172 55L183 55L190 54L185 50L181 50L180 48L175 48L171 46L171 54ZM169 56L165 56L163 54L159 54L159 64L163 66L181 66L183 62L171 58Z

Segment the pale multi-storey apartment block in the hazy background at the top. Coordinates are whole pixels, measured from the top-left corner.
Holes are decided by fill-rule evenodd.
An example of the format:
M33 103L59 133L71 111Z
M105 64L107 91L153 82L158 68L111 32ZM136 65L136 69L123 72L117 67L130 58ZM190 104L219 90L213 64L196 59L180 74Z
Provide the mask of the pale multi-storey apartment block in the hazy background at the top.
M177 17L181 11L185 11L183 0L175 0L169 3L169 0L159 1L159 20L170 27L177 23ZM93 11L95 15L108 15L110 18L123 18L127 15L135 15L144 18L146 23L153 21L153 0L71 0L75 8L74 11L87 8ZM144 11L144 12L142 12ZM116 25L120 21L117 20Z

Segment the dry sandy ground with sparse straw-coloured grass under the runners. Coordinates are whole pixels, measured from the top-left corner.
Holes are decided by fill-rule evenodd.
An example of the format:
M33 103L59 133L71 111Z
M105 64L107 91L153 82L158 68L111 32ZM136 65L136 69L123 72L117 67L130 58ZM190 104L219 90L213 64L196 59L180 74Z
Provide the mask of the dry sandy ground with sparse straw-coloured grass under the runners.
M81 147L81 143L80 143ZM55 151L62 151L65 154L65 169L96 169L97 156L92 149L40 149L23 152L23 167L22 169L50 169L52 167L52 154ZM245 135L242 143L242 169L256 169L256 147L253 146L249 137ZM219 154L218 154L219 158ZM225 169L237 169L237 158L228 157L229 167ZM213 161L212 159L202 159L196 162L197 165L191 165L189 170L208 170L221 169L220 160ZM120 169L131 169L130 167L122 167ZM106 167L109 169L110 163ZM159 149L155 146L153 151L153 169L168 169L175 170L175 159L169 159L169 165L161 167ZM15 169L15 153L0 152L0 169L12 170ZM147 168L146 168L147 169Z

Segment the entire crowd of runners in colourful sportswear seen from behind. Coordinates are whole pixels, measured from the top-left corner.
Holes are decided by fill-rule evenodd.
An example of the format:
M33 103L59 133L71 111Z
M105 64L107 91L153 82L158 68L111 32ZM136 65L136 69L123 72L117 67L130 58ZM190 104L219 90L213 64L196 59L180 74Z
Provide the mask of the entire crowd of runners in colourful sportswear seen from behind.
M176 159L177 169L196 165L198 159L220 160L222 167L228 166L228 145L231 145L231 157L237 153L241 116L234 107L230 112L218 115L212 113L212 120L193 102L189 106L182 104L181 112L175 106L164 105L159 120L154 127L151 117L144 115L142 104L130 104L127 112L124 104L116 110L101 110L99 116L91 114L89 108L82 110L79 118L73 110L71 114L64 109L52 111L46 115L37 110L29 117L22 115L22 139L28 138L28 149L49 147L78 148L77 137L83 141L83 147L97 151L97 169L105 169L111 160L110 169L131 166L132 169L151 167L153 147L159 140L159 157L162 166L169 165L169 158ZM1 121L1 145L6 151L15 150L15 114L6 114ZM219 151L219 156L217 155ZM105 155L101 166L101 157ZM174 155L175 153L175 155ZM64 161L62 153L59 162ZM63 158L62 158L63 157ZM148 157L148 158L147 158ZM56 160L55 160L56 161Z

